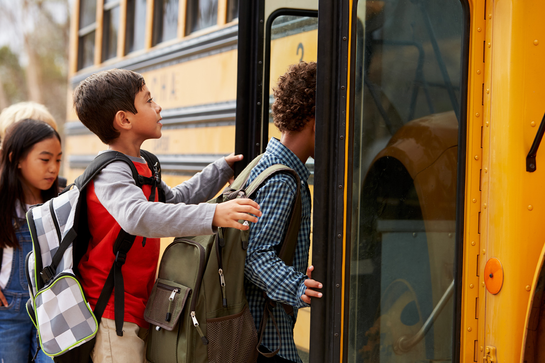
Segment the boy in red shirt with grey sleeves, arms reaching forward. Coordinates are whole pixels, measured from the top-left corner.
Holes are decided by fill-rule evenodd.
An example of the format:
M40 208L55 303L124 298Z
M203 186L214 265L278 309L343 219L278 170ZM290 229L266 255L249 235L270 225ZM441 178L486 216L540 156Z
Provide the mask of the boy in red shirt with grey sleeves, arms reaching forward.
M161 137L161 106L155 103L143 77L135 72L114 69L95 73L74 90L78 118L108 150L124 153L138 173L152 172L140 155L144 140ZM105 151L102 151L105 152ZM114 323L114 294L102 315L96 343L91 353L98 362L145 362L146 335L149 324L144 309L155 280L159 260L160 237L198 236L215 233L217 227L247 226L239 219L257 222L259 206L250 199L235 199L221 204L207 204L233 176L232 165L242 155L229 155L208 165L201 173L177 187L162 182L166 204L148 201L152 187L136 186L131 170L124 162L113 162L94 178L87 188L87 213L91 238L87 253L78 265L81 284L91 307L104 287L115 260L113 243L123 228L136 237L126 262L124 275L123 330Z

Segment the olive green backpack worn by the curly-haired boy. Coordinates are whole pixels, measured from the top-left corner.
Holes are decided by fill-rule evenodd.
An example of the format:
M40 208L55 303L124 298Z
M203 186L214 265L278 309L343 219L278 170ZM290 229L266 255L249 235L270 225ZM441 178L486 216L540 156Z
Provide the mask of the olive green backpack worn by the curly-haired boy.
M254 159L222 194L208 201L221 203L250 198L277 173L293 175L297 194L288 231L278 256L292 263L301 221L299 176L276 164L247 187ZM248 221L240 223L250 225ZM178 237L161 258L158 279L144 319L151 323L146 358L152 363L253 363L268 317L275 303L267 299L259 335L244 290L244 265L250 230L219 227L215 235ZM286 311L293 309L284 307ZM277 334L280 339L280 333ZM275 352L265 353L272 356ZM264 354L264 355L265 355Z

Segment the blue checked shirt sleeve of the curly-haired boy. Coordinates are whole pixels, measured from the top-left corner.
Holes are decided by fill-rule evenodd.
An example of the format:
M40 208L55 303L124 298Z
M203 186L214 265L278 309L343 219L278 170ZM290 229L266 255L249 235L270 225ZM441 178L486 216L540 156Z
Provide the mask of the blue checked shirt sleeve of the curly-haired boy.
M269 180L259 189L255 201L263 213L251 226L246 254L246 278L276 302L292 306L308 306L301 300L308 276L286 266L276 256L275 246L282 243L284 230L295 200L294 181ZM290 188L291 187L291 188Z

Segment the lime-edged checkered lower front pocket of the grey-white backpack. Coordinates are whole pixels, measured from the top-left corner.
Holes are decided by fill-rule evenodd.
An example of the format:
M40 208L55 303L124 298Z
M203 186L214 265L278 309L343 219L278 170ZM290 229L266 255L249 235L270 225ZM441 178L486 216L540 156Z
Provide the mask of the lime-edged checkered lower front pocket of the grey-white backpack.
M59 355L96 334L96 319L72 274L62 275L40 290L34 309L41 347L47 355Z

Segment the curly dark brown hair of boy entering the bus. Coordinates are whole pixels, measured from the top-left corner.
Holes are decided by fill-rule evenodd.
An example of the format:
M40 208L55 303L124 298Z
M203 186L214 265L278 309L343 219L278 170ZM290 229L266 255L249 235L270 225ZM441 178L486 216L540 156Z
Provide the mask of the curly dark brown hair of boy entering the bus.
M275 126L280 131L301 131L316 113L316 62L290 65L272 90Z

